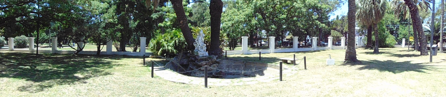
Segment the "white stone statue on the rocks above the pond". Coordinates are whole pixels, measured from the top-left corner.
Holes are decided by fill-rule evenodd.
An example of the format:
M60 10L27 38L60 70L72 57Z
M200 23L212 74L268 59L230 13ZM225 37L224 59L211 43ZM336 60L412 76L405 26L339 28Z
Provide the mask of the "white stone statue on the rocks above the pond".
M204 34L203 30L200 31L200 33L197 35L197 39L195 39L194 42L195 55L198 55L198 57L206 57L209 56L206 52L206 44L204 44Z

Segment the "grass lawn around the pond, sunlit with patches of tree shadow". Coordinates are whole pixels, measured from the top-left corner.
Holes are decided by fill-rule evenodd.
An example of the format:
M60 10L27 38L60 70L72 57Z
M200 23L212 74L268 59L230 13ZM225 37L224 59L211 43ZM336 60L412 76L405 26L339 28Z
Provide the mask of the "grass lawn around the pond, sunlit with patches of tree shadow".
M306 56L303 63L285 66L295 74L284 81L254 85L209 86L182 84L160 77L150 78L150 70L142 66L142 58L128 56L96 56L43 54L0 51L0 96L150 96L150 97L222 97L222 96L446 96L446 54L418 56L407 48L358 48L363 64L340 65L345 50L318 50L295 53L262 54L260 62L278 63L272 57ZM326 66L331 54L335 66ZM258 61L258 54L228 55L228 58ZM292 58L292 56L290 57ZM161 59L151 59L165 62ZM20 66L20 67L19 67ZM29 68L24 67L29 66Z

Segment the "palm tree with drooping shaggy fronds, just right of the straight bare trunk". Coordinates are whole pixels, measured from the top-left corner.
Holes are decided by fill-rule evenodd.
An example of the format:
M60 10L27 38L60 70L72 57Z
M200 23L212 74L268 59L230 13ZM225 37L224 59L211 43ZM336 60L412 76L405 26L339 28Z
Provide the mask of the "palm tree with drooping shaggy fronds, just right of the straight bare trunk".
M383 19L385 10L387 9L387 1L386 0L359 0L356 2L356 12L357 19L363 25L368 25L368 33L367 40L371 39L372 31L371 27L373 26L373 30L375 32L375 49L373 50L374 54L380 53L379 39L378 39L378 23ZM371 41L371 40L370 40ZM369 44L369 42L367 43ZM370 44L371 45L371 44Z

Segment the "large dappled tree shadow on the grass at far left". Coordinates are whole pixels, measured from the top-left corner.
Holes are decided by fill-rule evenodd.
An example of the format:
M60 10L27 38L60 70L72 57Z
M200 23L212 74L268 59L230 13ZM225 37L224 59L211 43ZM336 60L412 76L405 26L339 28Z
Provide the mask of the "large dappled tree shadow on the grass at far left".
M70 54L40 54L8 52L0 54L0 78L17 78L33 83L17 88L37 93L54 85L87 83L86 79L109 75L110 57ZM113 59L113 58L111 58Z

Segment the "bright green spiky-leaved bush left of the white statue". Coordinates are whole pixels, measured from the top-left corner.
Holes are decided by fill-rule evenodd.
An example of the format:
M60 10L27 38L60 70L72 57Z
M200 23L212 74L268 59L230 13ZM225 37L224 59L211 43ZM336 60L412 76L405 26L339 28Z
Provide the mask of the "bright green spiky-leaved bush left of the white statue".
M149 49L154 55L174 57L181 51L187 51L186 40L180 30L158 34L150 40Z

